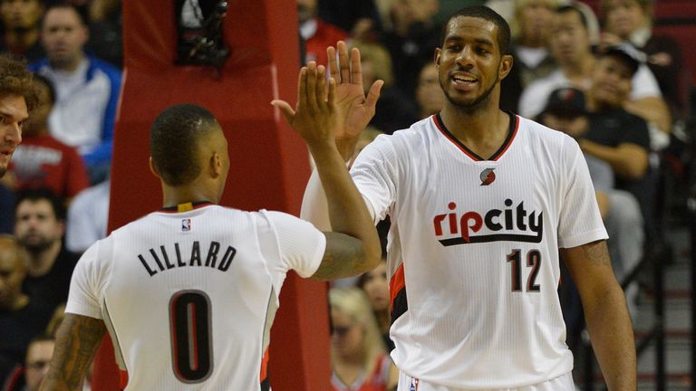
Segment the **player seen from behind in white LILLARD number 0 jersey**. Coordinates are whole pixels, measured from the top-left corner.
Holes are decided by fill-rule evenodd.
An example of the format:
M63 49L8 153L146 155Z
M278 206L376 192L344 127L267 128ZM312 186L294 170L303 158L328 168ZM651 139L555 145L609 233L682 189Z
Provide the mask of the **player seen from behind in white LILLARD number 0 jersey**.
M198 106L164 110L150 131L163 207L95 243L78 262L42 390L77 389L107 330L128 390L269 389L266 348L285 273L338 278L369 270L381 255L333 142L333 96L314 100L314 113L323 115L303 115L306 105L298 108L304 126L326 129L323 138L313 133L310 148L335 188L332 208L353 210L350 218L332 212L339 228L323 234L291 215L217 205L229 169L222 129Z

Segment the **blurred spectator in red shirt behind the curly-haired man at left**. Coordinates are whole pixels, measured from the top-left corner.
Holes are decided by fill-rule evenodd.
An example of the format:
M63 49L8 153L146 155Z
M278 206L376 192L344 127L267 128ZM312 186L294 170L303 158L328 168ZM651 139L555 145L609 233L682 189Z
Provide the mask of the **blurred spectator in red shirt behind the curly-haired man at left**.
M48 134L48 116L55 92L51 81L34 75L39 104L22 129L23 142L14 151L10 169L15 189L50 188L56 196L71 199L89 186L84 163L77 151Z

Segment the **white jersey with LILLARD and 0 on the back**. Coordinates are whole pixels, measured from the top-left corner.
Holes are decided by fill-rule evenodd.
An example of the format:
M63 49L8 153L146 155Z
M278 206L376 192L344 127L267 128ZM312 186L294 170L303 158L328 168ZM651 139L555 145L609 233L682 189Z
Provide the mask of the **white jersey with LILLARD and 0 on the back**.
M156 212L82 256L67 312L103 319L132 390L258 390L285 273L325 236L278 212Z

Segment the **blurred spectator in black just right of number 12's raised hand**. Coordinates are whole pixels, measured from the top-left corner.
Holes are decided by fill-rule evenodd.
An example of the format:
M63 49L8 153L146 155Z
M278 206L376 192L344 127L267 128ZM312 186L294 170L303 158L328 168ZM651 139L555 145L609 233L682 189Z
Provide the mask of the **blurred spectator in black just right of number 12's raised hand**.
M351 46L360 50L362 87L365 89L365 95L374 81L384 81L370 126L387 134L411 126L417 119L418 110L411 99L404 96L401 90L394 88L389 52L379 43L354 41Z

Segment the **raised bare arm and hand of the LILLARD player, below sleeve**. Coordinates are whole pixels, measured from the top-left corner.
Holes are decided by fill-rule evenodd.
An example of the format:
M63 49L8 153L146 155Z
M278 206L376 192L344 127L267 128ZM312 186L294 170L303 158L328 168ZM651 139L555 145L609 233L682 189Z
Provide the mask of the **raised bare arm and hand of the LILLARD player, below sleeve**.
M324 258L314 278L328 280L366 272L380 262L381 244L372 215L345 167L335 134L343 127L335 102L336 83L323 66L310 62L300 71L297 106L274 104L309 147L324 185L333 233L326 234Z

